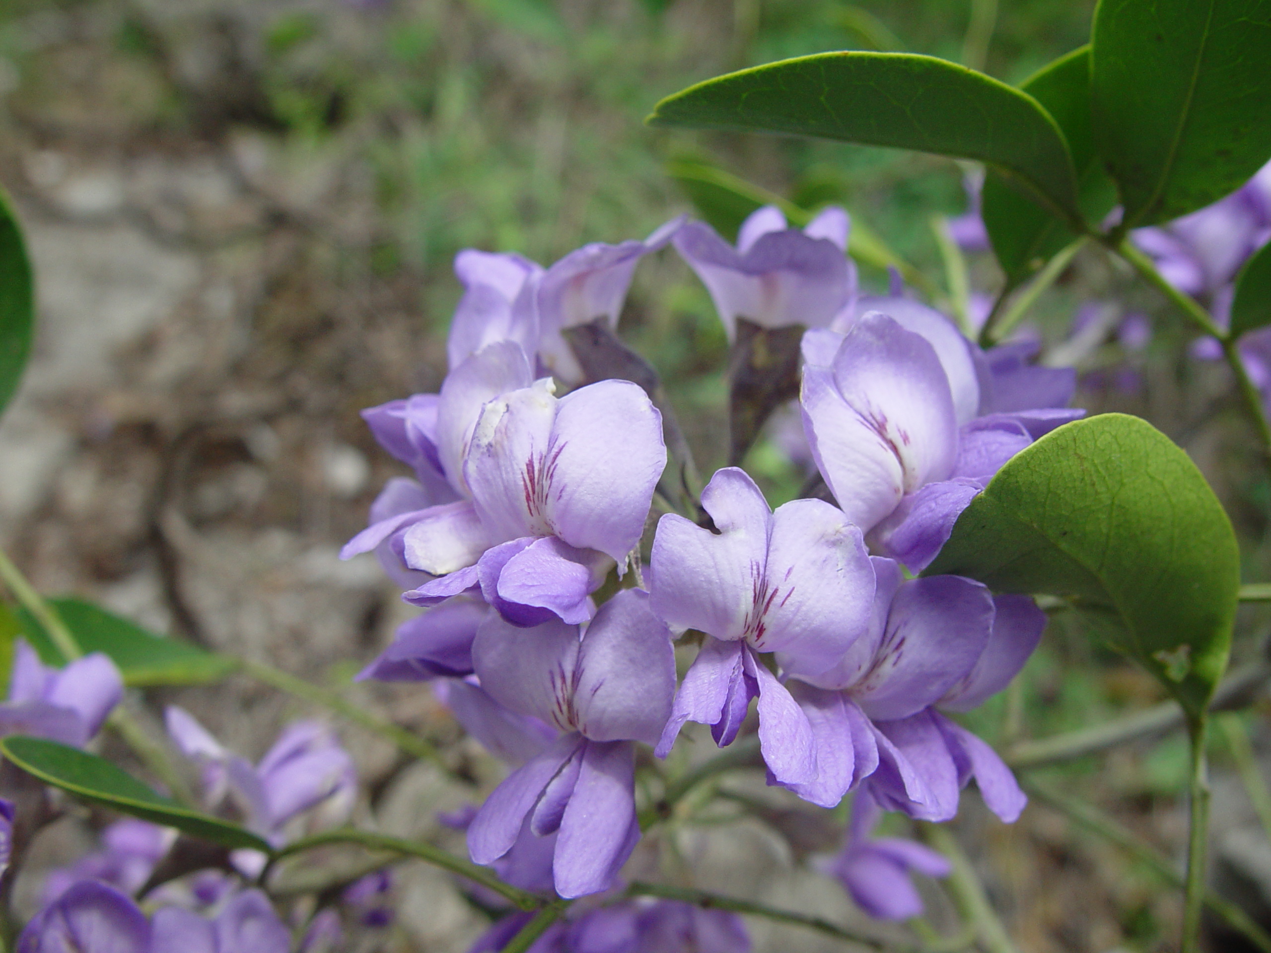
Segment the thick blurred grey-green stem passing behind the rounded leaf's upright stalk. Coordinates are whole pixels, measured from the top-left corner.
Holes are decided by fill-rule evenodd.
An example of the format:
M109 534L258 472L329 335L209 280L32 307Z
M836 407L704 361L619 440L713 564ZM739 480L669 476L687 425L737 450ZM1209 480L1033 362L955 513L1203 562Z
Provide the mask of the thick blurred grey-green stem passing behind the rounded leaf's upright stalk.
M1251 695L1267 680L1271 680L1271 666L1266 662L1242 666L1218 686L1209 705L1210 710L1224 712L1248 704ZM1012 745L1003 752L1003 760L1017 771L1043 767L1162 734L1181 728L1185 722L1186 718L1178 705L1173 701L1162 701L1159 705L1107 724Z

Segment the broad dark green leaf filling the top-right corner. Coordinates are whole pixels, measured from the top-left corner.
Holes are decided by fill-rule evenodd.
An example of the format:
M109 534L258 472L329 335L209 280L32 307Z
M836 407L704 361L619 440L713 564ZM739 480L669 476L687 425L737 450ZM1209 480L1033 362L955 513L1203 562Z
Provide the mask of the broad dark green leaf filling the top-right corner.
M1102 0L1092 41L1094 142L1126 226L1202 208L1271 158L1271 0Z

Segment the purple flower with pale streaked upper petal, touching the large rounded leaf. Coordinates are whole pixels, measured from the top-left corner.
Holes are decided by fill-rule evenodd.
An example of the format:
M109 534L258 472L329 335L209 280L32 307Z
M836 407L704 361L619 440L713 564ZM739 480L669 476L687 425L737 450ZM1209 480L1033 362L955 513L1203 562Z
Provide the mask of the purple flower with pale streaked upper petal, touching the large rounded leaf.
M976 417L982 398L966 342L920 311L896 310L925 329L871 311L838 348L831 332L808 332L799 399L817 468L848 518L877 551L921 569L1007 460L1084 412Z

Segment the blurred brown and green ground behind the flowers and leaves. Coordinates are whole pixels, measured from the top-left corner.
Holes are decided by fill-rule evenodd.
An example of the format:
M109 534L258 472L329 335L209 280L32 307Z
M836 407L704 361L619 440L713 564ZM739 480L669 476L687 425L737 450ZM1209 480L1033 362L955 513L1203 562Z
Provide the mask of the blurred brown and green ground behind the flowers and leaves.
M845 205L944 287L933 216L966 211L975 170L891 150L647 128L658 98L746 65L825 50L907 50L1018 83L1084 42L1091 0L5 0L0 183L39 282L37 352L0 424L0 545L37 586L156 632L269 661L411 724L470 776L497 769L426 687L348 687L408 615L370 557L337 550L398 473L357 412L435 390L460 248L544 264L642 238L691 211L669 163L705 163L797 205ZM986 253L972 288L995 294ZM887 274L863 267L862 283ZM661 371L709 473L722 463L723 330L674 253L646 259L622 333ZM1271 487L1220 366L1153 294L1083 252L1030 318L1078 366L1080 405L1152 419L1201 464L1267 578ZM778 442L747 461L774 504L802 473ZM1267 614L1246 610L1237 659ZM154 693L258 756L301 713L247 681ZM1063 618L1019 687L975 713L1005 743L1160 700ZM1244 718L1258 747L1268 710ZM1271 845L1214 745L1215 877L1271 910ZM470 790L347 732L385 827L436 836ZM1185 818L1178 734L1051 771L1172 856ZM745 780L745 779L742 779ZM704 882L853 917L797 873L833 840L765 792L699 836ZM755 798L769 798L755 808ZM963 801L956 828L1024 950L1168 949L1176 892L1061 814L1013 827ZM766 814L765 814L766 809ZM784 820L783 820L784 818ZM1251 826L1252 825L1252 826ZM896 831L904 826L895 823ZM41 844L83 853L83 825ZM822 827L815 828L822 831ZM805 834L799 834L805 831ZM690 832L691 834L691 832ZM688 835L686 835L688 836ZM817 840L821 837L821 840ZM714 879L712 879L714 878ZM731 878L731 879L730 879ZM34 875L19 896L34 896ZM483 915L441 874L402 868L399 916L357 949L463 950ZM932 892L937 920L947 901ZM840 949L755 924L758 950ZM1235 949L1219 938L1216 949Z

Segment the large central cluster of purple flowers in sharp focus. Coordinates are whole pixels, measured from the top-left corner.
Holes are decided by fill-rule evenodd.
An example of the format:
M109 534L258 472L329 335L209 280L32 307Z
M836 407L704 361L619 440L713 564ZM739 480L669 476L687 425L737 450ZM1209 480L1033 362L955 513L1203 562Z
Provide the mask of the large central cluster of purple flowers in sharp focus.
M949 713L1010 681L1045 616L1030 598L906 569L932 563L1007 460L1080 416L1066 408L1074 376L1033 366L1026 347L981 351L900 288L858 295L848 230L840 208L805 229L761 208L736 247L672 221L550 268L464 252L440 391L365 412L414 475L389 482L344 555L374 550L426 611L360 677L436 680L512 766L463 818L473 860L510 883L566 898L611 889L641 836L636 742L666 757L699 722L727 746L751 700L771 784L826 807L859 792L866 820L833 865L858 898L862 869L905 883L910 869L944 870L916 845L868 841L878 807L948 820L975 778L1003 820L1023 808L1010 771ZM590 379L571 329L613 332L638 259L665 244L730 338L741 320L805 329L798 412L821 498L774 511L726 468L693 512L658 497L649 532L666 422L636 382ZM699 647L676 685L672 639L685 633ZM860 902L907 916L911 893ZM602 911L632 935L733 929L649 926L697 923L676 905ZM588 923L540 943L591 949ZM502 929L478 948L497 949Z

